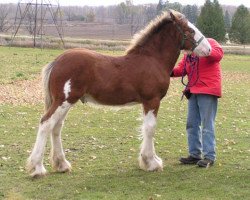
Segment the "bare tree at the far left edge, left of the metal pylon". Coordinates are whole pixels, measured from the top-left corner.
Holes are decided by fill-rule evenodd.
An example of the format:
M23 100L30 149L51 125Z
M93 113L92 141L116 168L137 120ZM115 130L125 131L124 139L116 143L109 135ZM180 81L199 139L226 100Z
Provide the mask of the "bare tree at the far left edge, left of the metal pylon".
M8 31L11 28L8 21L9 13L9 4L0 4L0 32Z

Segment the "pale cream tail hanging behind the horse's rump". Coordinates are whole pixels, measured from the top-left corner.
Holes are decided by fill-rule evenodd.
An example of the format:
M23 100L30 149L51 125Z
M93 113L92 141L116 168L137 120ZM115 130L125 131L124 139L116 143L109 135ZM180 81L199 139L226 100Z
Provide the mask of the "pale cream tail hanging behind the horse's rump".
M50 79L50 74L51 74L51 71L53 69L53 66L54 66L54 63L51 62L48 65L46 65L42 71L45 111L47 111L52 104L52 98L51 98L51 94L50 94L50 90L49 90L49 79Z

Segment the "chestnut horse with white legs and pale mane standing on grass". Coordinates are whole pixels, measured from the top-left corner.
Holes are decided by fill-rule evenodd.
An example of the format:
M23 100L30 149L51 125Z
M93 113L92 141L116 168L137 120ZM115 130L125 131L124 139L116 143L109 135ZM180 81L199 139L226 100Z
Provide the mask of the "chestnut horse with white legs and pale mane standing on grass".
M139 167L163 170L153 137L161 99L181 50L208 56L211 46L183 14L166 11L134 36L123 56L108 56L84 48L65 51L43 69L45 113L27 160L32 177L47 172L43 156L51 135L51 164L57 172L71 171L61 142L61 129L70 108L79 100L101 105L142 104L142 143Z

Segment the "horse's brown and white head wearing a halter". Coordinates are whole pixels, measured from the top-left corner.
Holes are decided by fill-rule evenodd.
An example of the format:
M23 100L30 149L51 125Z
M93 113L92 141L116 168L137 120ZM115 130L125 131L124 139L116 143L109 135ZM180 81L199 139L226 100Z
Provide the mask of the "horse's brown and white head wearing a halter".
M181 13L171 10L170 16L181 34L181 49L197 56L208 56L211 46L205 36Z

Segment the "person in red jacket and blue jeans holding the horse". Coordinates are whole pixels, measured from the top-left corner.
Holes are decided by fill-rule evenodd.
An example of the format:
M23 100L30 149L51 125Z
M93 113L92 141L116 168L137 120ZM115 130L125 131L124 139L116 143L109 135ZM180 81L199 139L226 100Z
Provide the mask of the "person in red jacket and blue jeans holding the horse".
M221 45L207 38L211 45L210 55L197 57L185 54L174 67L171 77L188 76L183 94L188 98L186 132L188 157L181 157L182 164L212 166L216 159L215 118L218 98L221 97L221 66L223 57Z

